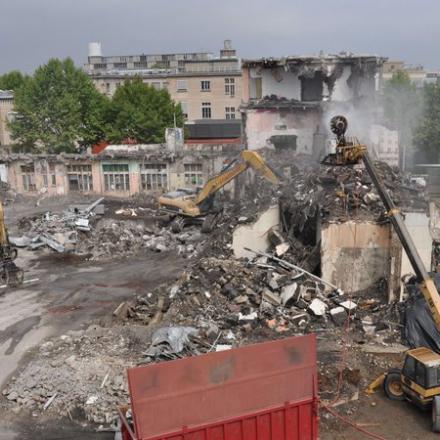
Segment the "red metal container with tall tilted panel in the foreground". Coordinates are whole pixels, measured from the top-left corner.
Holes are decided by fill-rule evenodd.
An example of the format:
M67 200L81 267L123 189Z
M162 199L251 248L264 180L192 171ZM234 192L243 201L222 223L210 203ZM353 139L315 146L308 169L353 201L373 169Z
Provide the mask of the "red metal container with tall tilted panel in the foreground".
M124 440L315 440L315 335L128 370Z

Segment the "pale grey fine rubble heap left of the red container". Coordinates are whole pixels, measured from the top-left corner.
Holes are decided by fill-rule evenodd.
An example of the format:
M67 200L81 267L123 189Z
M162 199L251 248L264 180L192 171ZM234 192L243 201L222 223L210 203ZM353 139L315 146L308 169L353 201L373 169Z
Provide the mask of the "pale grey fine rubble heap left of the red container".
M92 325L70 331L42 344L3 395L15 412L24 407L113 423L117 405L128 400L125 370L134 365L141 340L134 328Z

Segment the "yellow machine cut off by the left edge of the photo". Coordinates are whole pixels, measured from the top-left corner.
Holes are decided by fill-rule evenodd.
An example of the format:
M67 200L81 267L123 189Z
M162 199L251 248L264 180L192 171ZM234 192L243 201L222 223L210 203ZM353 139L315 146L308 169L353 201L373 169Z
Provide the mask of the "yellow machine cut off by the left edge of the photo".
M3 204L0 202L0 285L15 287L23 282L23 271L14 263L16 258L17 249L9 242Z

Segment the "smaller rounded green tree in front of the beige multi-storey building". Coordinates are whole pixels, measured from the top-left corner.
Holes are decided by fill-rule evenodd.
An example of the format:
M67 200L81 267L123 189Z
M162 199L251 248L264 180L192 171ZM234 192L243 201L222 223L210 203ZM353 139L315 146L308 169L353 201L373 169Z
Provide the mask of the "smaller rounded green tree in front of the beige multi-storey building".
M140 78L126 80L115 92L107 113L107 137L112 142L135 139L140 143L165 140L165 128L183 126L180 104L167 90L157 90Z

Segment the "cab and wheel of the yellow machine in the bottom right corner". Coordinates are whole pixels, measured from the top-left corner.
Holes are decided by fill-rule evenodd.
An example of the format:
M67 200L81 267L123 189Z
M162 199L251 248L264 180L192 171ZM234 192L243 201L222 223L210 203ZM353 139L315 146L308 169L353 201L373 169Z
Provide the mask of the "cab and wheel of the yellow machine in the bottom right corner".
M402 370L393 368L383 382L391 400L409 400L432 411L432 429L440 432L440 354L426 347L408 350Z

